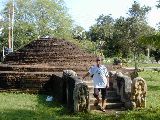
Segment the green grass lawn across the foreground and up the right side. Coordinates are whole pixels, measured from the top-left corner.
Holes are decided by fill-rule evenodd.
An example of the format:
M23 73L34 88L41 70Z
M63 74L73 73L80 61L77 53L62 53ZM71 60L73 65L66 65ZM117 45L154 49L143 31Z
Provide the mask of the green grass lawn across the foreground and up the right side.
M0 93L0 120L148 120L160 119L160 73L139 73L148 84L147 108L118 115L69 113L55 102L46 102L45 95Z

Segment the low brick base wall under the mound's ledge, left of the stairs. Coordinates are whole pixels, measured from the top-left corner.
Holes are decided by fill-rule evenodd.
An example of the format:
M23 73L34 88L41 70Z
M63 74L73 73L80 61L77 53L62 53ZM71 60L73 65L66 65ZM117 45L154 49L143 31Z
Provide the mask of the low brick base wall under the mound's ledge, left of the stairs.
M0 88L37 88L41 89L54 73L0 71ZM62 74L62 73L61 73ZM61 75L57 73L57 76Z

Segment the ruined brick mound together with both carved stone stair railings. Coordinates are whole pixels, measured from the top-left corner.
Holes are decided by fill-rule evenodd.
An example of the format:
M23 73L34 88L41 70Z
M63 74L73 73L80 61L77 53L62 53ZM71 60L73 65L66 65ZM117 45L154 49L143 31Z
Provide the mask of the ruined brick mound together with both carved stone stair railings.
M66 40L40 38L6 56L0 64L0 91L52 95L71 111L88 111L94 102L93 85L90 78L83 82L78 76L83 76L95 59L95 55ZM146 84L142 79L132 81L123 74L110 72L110 81L115 91L108 91L109 98L117 100L118 96L127 109L145 107Z

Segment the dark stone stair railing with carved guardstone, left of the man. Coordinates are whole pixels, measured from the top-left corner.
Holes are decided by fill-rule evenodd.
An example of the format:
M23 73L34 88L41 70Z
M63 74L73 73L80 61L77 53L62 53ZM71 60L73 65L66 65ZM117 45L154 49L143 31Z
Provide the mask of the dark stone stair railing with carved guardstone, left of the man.
M86 112L89 110L89 89L76 72L72 70L63 71L66 81L67 108L74 112Z

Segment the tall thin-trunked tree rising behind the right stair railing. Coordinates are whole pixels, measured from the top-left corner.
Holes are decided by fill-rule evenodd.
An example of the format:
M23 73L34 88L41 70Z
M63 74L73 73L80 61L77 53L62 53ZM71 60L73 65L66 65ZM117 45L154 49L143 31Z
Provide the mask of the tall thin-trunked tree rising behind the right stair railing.
M128 40L129 45L131 45L131 51L134 54L135 69L137 69L137 55L141 51L139 38L143 35L148 34L146 30L146 28L148 28L146 15L150 10L150 7L141 7L140 4L135 1L132 7L129 9L129 18L127 19L129 27Z

